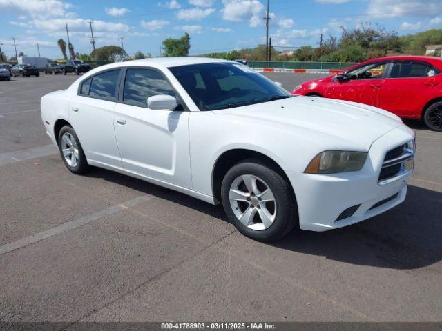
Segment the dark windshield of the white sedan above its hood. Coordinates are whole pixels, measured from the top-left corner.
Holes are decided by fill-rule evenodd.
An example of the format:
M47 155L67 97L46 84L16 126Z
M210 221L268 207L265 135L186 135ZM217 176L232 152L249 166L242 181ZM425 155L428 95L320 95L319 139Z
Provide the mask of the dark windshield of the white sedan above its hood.
M202 63L169 68L200 110L218 110L292 97L240 63Z

